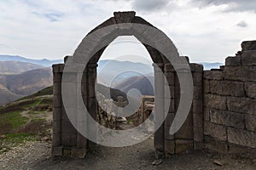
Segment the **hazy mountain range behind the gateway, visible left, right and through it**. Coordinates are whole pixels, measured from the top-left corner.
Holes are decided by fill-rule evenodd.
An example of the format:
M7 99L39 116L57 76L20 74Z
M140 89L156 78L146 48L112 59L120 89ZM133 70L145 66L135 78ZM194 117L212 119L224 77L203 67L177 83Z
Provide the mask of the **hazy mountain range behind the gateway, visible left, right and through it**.
M26 59L20 56L0 55L0 105L52 86L49 66L62 63L62 59ZM205 70L218 68L222 63L201 63ZM97 82L127 94L137 88L143 95L154 95L154 68L139 62L100 60ZM103 90L104 91L104 90ZM113 98L117 96L114 95Z

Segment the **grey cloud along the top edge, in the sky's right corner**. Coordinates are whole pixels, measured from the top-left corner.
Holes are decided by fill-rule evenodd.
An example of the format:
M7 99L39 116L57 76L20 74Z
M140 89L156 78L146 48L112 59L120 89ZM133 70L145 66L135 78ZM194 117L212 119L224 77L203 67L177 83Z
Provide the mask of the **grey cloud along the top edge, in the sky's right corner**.
M229 4L229 8L224 12L230 11L253 11L256 13L256 2L254 0L190 0L201 6Z

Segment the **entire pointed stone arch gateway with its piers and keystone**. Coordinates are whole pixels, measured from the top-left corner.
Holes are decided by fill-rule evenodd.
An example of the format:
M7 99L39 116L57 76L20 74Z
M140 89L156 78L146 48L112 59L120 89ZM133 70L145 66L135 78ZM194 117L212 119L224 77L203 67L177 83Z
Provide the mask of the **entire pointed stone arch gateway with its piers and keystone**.
M149 29L144 29L143 26L148 26ZM96 148L96 124L88 122L88 116L86 117L82 113L78 114L79 111L83 112L83 108L79 105L79 99L83 100L90 116L96 120L95 82L97 61L104 49L108 47L108 44L118 36L137 37L147 48L154 61L154 77L156 78L155 116L160 117L160 119L163 118L163 122L155 123L159 124L154 133L156 156L169 156L185 150L202 148L203 67L202 65L188 64L189 69L184 69L183 61L189 63L189 59L180 57L172 42L161 42L161 34L156 31L152 32L150 28L152 28L152 31L159 31L146 20L137 17L135 12L116 12L114 17L106 20L84 37L73 56L66 57L65 64L53 65L53 156L84 157L87 150ZM150 31L151 38L154 41L144 36L148 31ZM95 32L97 34L94 34ZM174 55L171 62L166 57L168 52L172 52ZM184 123L181 123L182 127L177 126L177 132L170 134L172 122L180 110L179 103L183 99L183 94L193 94L193 92L186 92L183 87L185 85L180 82L181 77L188 71L191 71L191 80L193 77L193 83L191 83L194 91L193 99L191 98L192 106L189 105L187 108L189 109L188 115L184 117ZM66 77L63 75L66 75ZM166 82L162 75L166 77ZM170 91L170 95L166 95L166 91ZM67 99L67 96L65 97L65 95L73 96L77 92L82 98L76 96L74 99ZM169 101L167 105L165 101ZM90 133L88 133L89 131Z

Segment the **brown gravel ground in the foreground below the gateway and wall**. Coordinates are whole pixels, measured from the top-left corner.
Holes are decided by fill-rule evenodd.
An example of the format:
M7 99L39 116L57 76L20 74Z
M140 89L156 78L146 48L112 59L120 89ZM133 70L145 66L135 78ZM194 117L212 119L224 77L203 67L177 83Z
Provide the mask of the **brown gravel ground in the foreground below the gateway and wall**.
M153 161L153 139L124 148L99 146L84 159L53 159L50 144L29 142L0 155L0 169L256 169L256 153L220 155L193 150L163 160L159 166L153 166Z

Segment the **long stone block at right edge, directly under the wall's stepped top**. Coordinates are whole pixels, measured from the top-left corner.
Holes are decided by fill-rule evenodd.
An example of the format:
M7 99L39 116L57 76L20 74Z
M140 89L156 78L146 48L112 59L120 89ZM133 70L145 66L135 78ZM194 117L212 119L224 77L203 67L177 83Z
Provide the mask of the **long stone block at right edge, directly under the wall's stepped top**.
M225 66L224 79L241 82L256 82L255 66Z

